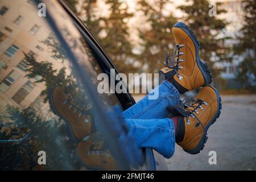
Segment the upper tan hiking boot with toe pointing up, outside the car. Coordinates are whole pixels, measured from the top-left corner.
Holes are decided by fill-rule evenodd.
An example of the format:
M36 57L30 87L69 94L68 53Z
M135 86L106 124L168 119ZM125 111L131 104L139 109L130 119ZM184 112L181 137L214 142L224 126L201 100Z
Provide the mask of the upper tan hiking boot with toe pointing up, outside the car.
M196 35L184 23L172 27L176 48L173 57L166 55L166 68L159 71L180 93L200 88L212 82L207 63L199 58L200 43Z

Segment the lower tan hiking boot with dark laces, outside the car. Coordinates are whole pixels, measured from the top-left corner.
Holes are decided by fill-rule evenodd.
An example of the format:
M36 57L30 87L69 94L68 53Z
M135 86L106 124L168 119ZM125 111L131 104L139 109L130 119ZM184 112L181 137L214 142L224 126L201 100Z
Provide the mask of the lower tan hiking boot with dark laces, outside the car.
M179 115L176 143L189 154L203 150L207 142L207 131L221 113L221 97L216 89L204 86L191 105L168 106L168 117Z

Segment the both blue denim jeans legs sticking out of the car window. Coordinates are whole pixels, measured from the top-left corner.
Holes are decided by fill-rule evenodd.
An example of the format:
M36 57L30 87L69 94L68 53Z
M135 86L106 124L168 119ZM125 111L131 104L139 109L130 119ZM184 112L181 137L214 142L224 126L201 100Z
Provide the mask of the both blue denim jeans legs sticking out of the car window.
M166 107L177 105L180 94L168 81L163 81L158 89L158 98L148 100L146 96L122 114L129 128L128 135L139 147L154 148L165 158L171 158L175 151L175 129L172 120L167 118Z

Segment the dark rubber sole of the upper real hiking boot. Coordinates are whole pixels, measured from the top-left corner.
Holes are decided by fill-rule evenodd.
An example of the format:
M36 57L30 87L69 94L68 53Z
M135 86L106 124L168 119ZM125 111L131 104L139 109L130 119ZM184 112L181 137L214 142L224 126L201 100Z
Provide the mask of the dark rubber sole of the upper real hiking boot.
M204 77L204 85L203 86L209 85L212 82L212 73L210 73L210 68L209 68L208 64L203 63L203 61L201 61L199 58L200 42L197 39L195 33L187 25L185 25L182 22L176 23L173 27L181 28L183 31L185 31L188 34L188 36L193 41L193 44L196 47L196 63Z

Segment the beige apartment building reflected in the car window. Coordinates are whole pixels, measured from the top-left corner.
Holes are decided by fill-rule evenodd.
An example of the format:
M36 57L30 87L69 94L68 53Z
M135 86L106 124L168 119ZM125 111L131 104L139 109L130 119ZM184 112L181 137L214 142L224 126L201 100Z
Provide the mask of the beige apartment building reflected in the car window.
M24 3L26 2L26 3ZM34 55L36 61L48 61L60 68L57 58L48 51L52 35L43 17L39 17L33 1L0 2L0 115L7 106L31 107L43 118L51 117L48 103L40 96L44 82L35 83L40 76L28 78L24 53Z

